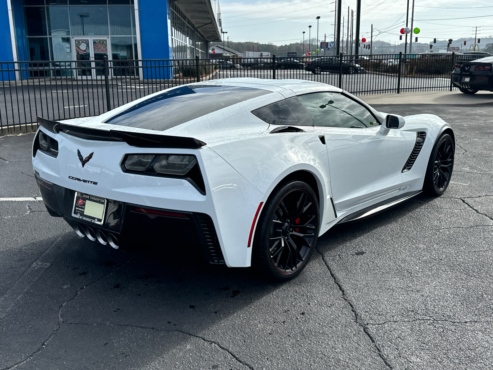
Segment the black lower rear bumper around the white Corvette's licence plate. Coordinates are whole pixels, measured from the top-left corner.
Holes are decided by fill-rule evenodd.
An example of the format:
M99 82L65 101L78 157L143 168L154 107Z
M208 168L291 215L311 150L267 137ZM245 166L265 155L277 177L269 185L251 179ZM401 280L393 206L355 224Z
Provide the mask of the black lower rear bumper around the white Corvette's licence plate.
M72 216L75 190L50 183L37 174L35 178L50 214L63 217L76 231L89 227L93 232L99 231L106 236L106 240L111 235L125 250L134 250L142 243L167 248L200 245L210 263L225 264L214 223L205 213L149 208L108 199L105 220L98 225ZM141 208L161 214L143 213L139 211ZM99 239L95 241L103 243Z

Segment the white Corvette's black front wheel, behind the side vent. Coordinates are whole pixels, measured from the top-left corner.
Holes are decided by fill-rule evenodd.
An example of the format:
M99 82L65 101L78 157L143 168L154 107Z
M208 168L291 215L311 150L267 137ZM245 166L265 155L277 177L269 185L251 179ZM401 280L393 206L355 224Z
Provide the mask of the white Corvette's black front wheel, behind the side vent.
M442 134L431 150L424 176L423 192L430 196L440 196L450 184L454 170L455 145L452 136Z

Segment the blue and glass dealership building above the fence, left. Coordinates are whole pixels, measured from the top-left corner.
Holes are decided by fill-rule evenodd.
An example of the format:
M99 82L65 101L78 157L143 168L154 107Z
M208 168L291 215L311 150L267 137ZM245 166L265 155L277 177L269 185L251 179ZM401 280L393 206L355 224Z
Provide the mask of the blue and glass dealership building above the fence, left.
M0 61L207 58L219 0L3 0Z

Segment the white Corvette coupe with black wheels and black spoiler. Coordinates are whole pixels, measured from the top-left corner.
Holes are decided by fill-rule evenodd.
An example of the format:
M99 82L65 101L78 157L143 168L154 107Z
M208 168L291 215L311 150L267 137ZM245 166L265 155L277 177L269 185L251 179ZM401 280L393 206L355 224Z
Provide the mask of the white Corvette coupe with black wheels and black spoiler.
M436 115L385 114L304 80L197 82L85 122L38 122L43 201L80 237L171 248L181 227L211 263L280 280L335 224L441 195L454 166L454 132Z

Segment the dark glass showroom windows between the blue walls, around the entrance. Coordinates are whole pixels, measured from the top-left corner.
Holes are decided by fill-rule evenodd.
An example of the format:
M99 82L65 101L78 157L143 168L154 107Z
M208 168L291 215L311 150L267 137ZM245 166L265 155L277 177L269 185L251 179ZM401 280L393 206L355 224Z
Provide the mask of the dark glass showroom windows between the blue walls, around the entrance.
M89 37L94 40L86 44L106 45L110 60L137 59L133 3L133 0L24 0L29 60L75 60L80 39L89 40ZM94 49L94 53L98 51L101 52Z

